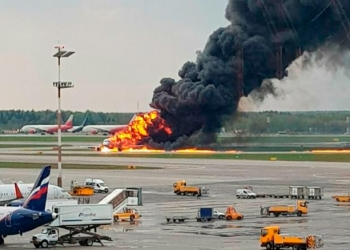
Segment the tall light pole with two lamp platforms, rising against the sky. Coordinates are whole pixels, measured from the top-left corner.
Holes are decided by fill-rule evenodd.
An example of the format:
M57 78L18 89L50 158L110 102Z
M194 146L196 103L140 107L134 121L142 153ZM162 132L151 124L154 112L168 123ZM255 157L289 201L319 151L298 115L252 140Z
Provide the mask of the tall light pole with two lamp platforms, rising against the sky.
M57 186L62 187L62 138L61 138L61 89L73 88L74 85L71 82L61 82L61 57L69 57L75 52L65 51L64 46L55 46L55 49L58 50L54 57L58 59L58 82L54 82L53 86L58 90L58 110L57 110L57 123L58 123L58 177L57 177Z

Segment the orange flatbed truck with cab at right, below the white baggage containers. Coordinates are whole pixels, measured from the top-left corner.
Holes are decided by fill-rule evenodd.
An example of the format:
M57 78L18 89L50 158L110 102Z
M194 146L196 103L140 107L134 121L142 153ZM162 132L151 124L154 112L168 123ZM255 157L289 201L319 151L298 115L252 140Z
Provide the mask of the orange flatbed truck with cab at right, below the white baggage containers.
M260 207L260 214L261 215L270 215L273 214L275 217L278 217L280 215L297 215L302 216L303 214L308 213L308 207L307 204L308 201L304 200L298 200L296 205L276 205L276 206L269 206L269 207Z

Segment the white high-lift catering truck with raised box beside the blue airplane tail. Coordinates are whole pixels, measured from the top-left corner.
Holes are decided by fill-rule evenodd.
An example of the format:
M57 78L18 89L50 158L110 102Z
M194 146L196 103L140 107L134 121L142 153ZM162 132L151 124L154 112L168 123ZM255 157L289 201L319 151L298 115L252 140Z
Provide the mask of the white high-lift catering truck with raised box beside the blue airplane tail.
M92 246L94 242L103 246L101 240L112 241L111 237L96 233L99 226L113 224L111 204L58 205L53 206L53 212L59 214L57 219L30 241L36 248L63 243ZM69 233L60 235L59 228Z

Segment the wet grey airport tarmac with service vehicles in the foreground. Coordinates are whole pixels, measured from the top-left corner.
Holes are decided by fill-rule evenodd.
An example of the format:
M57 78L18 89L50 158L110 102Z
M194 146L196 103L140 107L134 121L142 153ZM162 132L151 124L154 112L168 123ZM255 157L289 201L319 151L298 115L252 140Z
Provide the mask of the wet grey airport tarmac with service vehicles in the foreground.
M10 157L10 156L9 156ZM17 156L21 161L40 159L55 160L55 157ZM43 158L44 157L44 158ZM0 161L16 160L0 156ZM111 188L142 187L143 206L138 207L142 219L138 224L120 223L100 230L114 241L106 242L108 249L261 249L259 233L262 227L278 224L282 233L306 236L321 234L324 249L345 250L350 248L348 218L350 206L337 206L331 199L335 194L347 194L350 184L348 163L317 162L259 162L208 159L145 159L119 157L65 157L65 162L112 161L119 164L163 166L159 170L63 170L64 187L71 180L82 183L85 178L101 178ZM63 164L64 168L64 164ZM34 169L2 169L4 182L22 180L33 182L38 174ZM57 170L52 171L51 183L55 184ZM185 179L188 185L204 185L210 188L208 197L177 196L172 192L172 183ZM237 188L252 186L258 193L288 193L290 185L322 186L324 198L310 200L309 214L299 217L260 216L260 206L294 204L295 200L261 198L256 200L236 199ZM91 202L98 202L103 194L95 195ZM244 214L241 221L215 221L200 223L195 220L183 224L167 224L165 216L187 215L195 218L199 207L214 207L224 212L227 205ZM6 238L4 249L34 248L28 242L39 232L36 229L21 236ZM60 248L59 246L56 248ZM69 246L68 249L81 249ZM89 249L101 249L93 246Z

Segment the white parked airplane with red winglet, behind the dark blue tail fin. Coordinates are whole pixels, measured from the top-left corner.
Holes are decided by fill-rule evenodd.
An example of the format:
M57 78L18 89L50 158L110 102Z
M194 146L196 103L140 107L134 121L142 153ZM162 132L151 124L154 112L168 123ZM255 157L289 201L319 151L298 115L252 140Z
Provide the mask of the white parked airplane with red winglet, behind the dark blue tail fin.
M22 205L25 198L28 197L33 189L31 184L1 184L0 185L0 206L4 205ZM70 199L72 196L61 187L55 185L48 185L47 191L48 199Z

